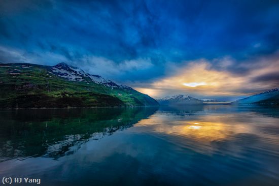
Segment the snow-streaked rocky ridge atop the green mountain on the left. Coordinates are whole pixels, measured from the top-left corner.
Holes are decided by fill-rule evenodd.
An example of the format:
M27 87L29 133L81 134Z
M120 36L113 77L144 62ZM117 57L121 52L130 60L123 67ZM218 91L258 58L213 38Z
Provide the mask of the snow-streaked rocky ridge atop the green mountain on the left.
M132 89L126 85L118 85L111 80L104 79L99 75L93 75L85 73L82 69L78 67L73 67L65 63L59 63L50 68L49 73L53 73L59 77L65 78L68 81L93 81L97 84L102 84L111 88L120 88L120 89Z

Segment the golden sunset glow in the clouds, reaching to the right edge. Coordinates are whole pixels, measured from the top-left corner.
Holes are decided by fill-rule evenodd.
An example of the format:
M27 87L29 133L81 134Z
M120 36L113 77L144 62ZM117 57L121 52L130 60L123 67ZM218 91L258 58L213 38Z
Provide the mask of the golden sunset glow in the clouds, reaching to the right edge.
M264 65L260 64L262 60L265 62ZM268 73L279 72L279 60L264 58L254 62L260 66L251 69L247 74L233 74L224 70L216 70L207 60L186 61L180 67L173 67L173 64L169 64L169 68L172 66L172 74L150 83L149 88L136 87L136 89L153 97L175 94L237 97L256 94L257 91L249 93L250 87L265 89L276 87L276 82L259 82L254 79L257 79L258 76L266 76ZM230 62L224 59L220 61L220 64L227 66ZM248 87L247 84L251 86Z

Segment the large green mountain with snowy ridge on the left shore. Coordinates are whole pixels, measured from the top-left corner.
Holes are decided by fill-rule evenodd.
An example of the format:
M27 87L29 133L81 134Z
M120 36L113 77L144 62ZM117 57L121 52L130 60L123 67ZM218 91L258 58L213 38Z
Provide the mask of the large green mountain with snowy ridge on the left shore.
M78 67L0 65L0 108L155 106L156 100Z

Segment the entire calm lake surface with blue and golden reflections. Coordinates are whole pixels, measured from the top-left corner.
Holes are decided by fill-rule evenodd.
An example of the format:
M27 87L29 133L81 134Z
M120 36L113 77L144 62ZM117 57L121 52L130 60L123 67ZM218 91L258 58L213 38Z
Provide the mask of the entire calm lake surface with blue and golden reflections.
M2 110L4 176L41 185L278 185L279 108Z

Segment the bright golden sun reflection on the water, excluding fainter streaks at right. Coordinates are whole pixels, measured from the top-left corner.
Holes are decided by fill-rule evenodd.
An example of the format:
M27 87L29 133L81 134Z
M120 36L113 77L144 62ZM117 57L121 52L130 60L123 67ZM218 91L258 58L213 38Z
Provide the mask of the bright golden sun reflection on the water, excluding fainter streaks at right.
M198 120L199 119L199 120ZM166 125L166 123L168 123ZM220 141L231 138L239 133L254 133L255 128L241 122L232 122L228 118L219 116L206 116L202 118L173 119L173 116L155 115L154 117L143 119L138 126L148 126L156 133L175 135L190 138L198 142Z

